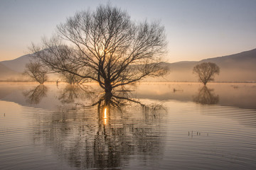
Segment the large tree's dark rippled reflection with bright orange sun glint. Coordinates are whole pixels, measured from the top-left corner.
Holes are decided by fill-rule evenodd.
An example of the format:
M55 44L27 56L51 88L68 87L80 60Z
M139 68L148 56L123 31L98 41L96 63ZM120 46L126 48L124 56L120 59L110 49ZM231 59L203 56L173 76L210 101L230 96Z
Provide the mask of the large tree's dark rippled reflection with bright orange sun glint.
M157 112L161 107L146 107L126 91L102 94L92 106L42 115L34 141L53 148L70 166L122 169L132 155L157 159L164 152L160 118L151 114Z

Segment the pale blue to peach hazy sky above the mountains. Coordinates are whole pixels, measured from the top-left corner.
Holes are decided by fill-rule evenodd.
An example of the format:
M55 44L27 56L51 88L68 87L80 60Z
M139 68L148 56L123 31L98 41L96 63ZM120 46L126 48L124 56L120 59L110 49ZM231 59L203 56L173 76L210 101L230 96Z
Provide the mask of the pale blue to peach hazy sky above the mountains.
M202 60L256 48L256 0L0 0L0 61L28 53L58 23L99 4L126 10L132 20L160 20L169 62Z

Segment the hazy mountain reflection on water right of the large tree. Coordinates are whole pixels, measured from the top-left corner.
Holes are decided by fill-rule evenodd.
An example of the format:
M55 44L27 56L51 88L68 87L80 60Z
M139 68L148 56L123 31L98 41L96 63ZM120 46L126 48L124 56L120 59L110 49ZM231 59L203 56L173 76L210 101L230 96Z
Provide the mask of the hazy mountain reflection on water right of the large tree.
M220 106L256 108L256 84L210 83L207 86L219 96ZM137 98L188 102L193 101L193 96L197 96L201 88L201 83L143 83L137 86L134 94Z

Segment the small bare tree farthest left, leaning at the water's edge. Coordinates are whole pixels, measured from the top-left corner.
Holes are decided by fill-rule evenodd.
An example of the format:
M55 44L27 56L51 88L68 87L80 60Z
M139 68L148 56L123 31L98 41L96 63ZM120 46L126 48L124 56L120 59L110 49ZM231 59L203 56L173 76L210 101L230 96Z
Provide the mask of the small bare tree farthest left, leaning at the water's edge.
M26 64L23 74L28 75L40 84L43 84L48 78L46 69L42 67L40 62L30 62Z

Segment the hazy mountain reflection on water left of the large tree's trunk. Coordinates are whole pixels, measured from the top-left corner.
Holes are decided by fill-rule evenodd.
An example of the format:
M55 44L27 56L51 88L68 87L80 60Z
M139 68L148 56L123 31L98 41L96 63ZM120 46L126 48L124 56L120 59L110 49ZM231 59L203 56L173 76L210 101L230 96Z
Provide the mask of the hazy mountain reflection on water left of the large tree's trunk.
M15 83L15 82L0 82L0 100L3 101L11 101L18 103L22 106L30 106L31 104L33 107L36 108L43 108L49 111L54 111L55 106L64 105L68 106L69 103L67 101L70 100L70 96L65 90L67 84L59 84L58 88L55 83L46 83L44 84L47 90L47 97L41 98L41 102L38 104L33 104L26 102L28 98L24 96L24 92L31 91L31 89L35 89L35 86L38 84L35 83ZM88 85L88 84L87 84ZM90 84L90 86L82 86L82 88L78 90L78 98L73 98L74 103L92 103L91 98L88 95L87 91L90 92L97 92L99 91L98 86L95 84ZM74 89L70 89L74 91ZM87 91L86 91L87 90ZM76 90L75 90L76 91ZM75 94L77 95L77 94ZM71 93L72 96L72 93ZM65 97L65 98L62 98ZM60 100L59 100L60 98ZM66 100L66 101L65 101Z

